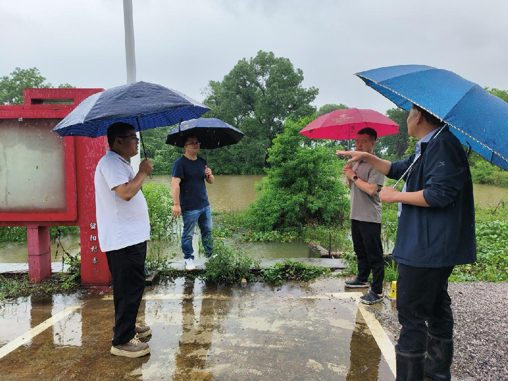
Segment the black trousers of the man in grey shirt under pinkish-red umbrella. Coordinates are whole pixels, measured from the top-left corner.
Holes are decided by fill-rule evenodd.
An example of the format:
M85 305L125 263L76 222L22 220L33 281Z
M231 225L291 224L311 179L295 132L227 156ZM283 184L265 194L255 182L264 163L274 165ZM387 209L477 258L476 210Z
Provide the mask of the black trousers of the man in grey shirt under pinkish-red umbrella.
M372 291L383 294L385 263L381 243L381 224L351 220L351 238L358 258L358 279L368 281L372 271Z

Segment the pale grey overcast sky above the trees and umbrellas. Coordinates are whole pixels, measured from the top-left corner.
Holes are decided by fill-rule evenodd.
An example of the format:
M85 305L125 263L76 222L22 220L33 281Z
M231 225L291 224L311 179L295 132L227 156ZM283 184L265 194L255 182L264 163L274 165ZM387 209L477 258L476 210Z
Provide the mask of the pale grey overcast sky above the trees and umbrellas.
M393 104L353 74L420 64L508 89L505 0L133 0L137 80L198 101L239 59L289 58L314 105L385 112ZM37 67L53 85L126 82L122 0L2 0L0 76Z

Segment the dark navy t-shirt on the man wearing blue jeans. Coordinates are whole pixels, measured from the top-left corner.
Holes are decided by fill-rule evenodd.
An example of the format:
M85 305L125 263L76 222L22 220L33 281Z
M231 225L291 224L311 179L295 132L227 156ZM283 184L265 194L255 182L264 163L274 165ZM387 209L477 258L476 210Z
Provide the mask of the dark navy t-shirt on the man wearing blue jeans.
M177 158L173 164L173 177L180 181L180 207L186 210L203 209L210 205L205 187L206 162L202 157L190 160L185 156Z

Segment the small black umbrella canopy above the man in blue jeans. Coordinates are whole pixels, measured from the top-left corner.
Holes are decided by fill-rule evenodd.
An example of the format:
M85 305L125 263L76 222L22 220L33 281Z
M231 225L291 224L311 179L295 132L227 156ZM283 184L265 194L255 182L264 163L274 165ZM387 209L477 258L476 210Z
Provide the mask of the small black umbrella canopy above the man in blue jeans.
M201 142L201 148L214 149L236 144L245 134L220 119L199 118L176 126L169 132L166 144L183 147L188 135L196 136Z

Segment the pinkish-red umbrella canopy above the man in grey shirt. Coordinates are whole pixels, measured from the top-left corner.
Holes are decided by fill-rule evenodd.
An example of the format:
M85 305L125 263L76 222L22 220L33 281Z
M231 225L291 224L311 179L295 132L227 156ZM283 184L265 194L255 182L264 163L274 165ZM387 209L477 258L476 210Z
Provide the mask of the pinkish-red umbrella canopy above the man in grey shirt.
M358 131L370 127L377 136L398 134L399 125L389 117L374 111L360 109L335 110L315 118L300 134L311 139L356 139Z

